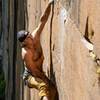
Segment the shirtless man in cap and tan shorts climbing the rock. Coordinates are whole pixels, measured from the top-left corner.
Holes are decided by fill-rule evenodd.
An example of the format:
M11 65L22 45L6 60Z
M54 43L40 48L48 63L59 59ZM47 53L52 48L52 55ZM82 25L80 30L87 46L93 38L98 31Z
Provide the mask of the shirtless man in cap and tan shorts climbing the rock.
M22 46L22 59L25 65L23 79L28 87L39 90L41 100L55 100L57 93L55 86L43 72L44 55L40 43L40 35L48 20L53 3L54 0L49 0L38 27L32 33L24 30L17 33Z

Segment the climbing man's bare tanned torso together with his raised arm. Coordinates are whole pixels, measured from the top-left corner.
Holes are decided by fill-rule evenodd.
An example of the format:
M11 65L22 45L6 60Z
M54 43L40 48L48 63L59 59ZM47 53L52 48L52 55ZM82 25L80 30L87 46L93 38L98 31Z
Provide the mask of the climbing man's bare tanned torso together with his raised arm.
M29 34L22 43L22 58L26 67L32 74L39 73L36 76L43 76L39 71L42 71L43 51L40 43L40 35L48 20L52 1L48 4L44 14L40 18L40 23L37 28Z

